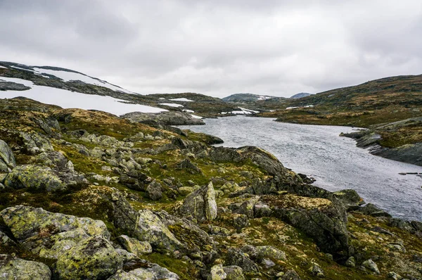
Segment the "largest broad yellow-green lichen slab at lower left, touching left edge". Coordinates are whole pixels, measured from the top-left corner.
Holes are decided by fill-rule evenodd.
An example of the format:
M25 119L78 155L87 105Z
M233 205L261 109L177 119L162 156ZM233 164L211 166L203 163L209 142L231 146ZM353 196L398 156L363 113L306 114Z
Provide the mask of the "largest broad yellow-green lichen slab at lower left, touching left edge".
M42 208L18 205L1 211L0 216L23 248L40 257L57 259L90 236L110 237L102 221Z

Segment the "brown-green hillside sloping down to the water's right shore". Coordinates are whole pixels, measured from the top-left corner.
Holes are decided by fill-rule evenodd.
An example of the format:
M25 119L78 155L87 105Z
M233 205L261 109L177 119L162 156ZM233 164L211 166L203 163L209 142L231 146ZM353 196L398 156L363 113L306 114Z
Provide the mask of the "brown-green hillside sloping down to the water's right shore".
M371 145L381 146L373 153L422 164L422 125L415 121L422 116L422 75L376 79L353 87L272 103L269 108L274 111L260 116L277 117L279 122L370 128L373 135ZM407 125L403 125L405 122ZM418 160L407 160L400 155L402 151L416 153Z

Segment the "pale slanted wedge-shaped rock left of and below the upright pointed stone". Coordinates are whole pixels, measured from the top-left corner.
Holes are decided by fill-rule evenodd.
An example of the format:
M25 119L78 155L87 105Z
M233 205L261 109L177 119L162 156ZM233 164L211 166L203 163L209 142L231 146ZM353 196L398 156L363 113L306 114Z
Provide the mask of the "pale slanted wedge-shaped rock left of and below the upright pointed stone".
M134 237L148 241L153 248L175 250L181 243L151 210L139 210Z

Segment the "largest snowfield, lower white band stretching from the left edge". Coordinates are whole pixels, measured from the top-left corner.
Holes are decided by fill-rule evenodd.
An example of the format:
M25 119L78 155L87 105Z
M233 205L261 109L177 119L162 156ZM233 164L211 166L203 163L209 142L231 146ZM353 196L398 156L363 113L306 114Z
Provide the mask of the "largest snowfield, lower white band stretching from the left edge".
M31 81L27 81L25 79L0 77L0 82L15 82L31 87L31 89L28 89L27 91L0 91L0 98L23 96L42 103L57 105L62 108L102 110L114 115L123 115L131 112L160 113L167 111L165 109L151 106L122 103L127 101L113 98L111 96L81 94L79 92L67 91L65 89L37 86Z

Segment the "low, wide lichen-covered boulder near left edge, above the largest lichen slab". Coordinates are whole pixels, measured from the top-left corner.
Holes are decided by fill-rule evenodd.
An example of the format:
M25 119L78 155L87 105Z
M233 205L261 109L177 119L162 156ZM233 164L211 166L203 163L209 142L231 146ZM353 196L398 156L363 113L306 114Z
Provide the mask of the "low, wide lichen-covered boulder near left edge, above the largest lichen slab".
M11 189L34 189L59 191L66 189L66 184L50 167L20 165L15 167L4 179L4 185Z

